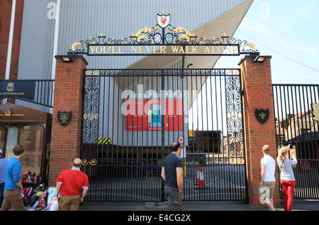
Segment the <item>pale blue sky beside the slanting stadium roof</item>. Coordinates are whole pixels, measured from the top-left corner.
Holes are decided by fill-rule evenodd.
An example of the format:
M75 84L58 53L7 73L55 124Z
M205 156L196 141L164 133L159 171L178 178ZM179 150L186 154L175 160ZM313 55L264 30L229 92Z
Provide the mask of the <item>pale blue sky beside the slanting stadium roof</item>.
M319 84L318 10L318 0L254 0L234 37L272 55L273 83ZM215 67L237 67L241 58L221 57Z

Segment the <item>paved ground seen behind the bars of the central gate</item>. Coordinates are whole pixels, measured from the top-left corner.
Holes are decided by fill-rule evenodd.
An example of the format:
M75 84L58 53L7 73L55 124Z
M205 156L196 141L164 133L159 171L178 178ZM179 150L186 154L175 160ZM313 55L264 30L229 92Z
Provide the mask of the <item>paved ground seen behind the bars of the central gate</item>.
M203 180L206 188L195 186L198 167L189 166L184 178L183 199L194 201L204 199L224 201L245 199L245 170L243 165L205 165ZM161 199L162 179L159 175L137 175L136 177L108 177L90 180L90 192L86 199L94 201L136 201L150 202Z

